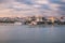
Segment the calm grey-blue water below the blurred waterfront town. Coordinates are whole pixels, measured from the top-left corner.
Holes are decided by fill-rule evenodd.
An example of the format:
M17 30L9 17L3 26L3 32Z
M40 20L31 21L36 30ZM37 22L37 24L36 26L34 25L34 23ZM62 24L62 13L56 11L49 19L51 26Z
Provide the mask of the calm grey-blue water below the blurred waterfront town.
M0 43L65 43L65 26L0 26Z

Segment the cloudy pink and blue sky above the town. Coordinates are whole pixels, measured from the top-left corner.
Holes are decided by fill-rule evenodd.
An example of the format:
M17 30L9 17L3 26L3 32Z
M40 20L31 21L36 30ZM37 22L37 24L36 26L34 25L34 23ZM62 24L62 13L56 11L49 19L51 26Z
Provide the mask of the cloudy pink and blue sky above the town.
M65 0L0 0L0 16L65 15Z

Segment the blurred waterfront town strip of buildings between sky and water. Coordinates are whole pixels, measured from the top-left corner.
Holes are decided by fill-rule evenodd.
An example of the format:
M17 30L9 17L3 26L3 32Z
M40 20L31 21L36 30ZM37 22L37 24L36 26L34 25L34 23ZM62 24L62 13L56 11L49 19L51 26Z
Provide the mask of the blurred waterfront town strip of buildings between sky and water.
M65 25L65 16L0 17L0 23L21 25Z

